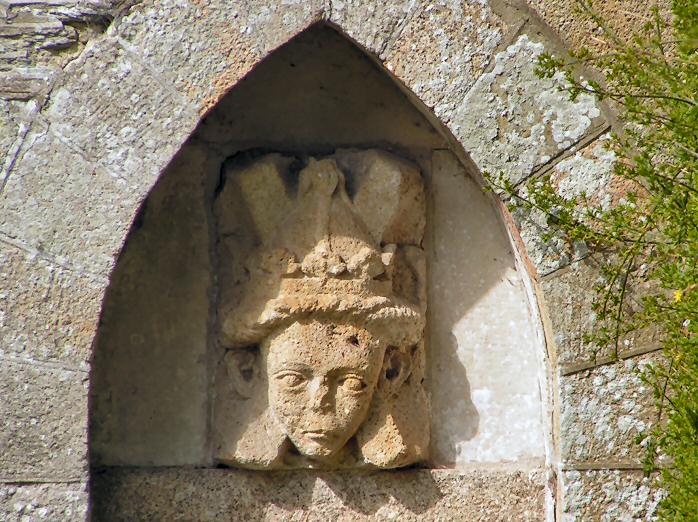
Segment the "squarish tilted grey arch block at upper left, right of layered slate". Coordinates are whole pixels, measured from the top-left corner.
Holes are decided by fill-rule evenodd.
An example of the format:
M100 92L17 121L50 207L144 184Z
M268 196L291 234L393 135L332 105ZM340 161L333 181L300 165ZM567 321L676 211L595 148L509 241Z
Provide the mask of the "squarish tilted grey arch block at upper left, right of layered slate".
M42 111L51 130L145 195L196 125L194 108L113 39L91 42L64 78Z

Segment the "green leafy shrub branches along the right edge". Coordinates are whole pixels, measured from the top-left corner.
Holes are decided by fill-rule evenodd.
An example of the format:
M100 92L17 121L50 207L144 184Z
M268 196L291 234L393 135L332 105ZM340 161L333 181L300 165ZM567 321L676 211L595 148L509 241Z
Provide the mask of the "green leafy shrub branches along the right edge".
M660 11L629 41L593 8L582 11L602 29L608 50L579 49L571 59L543 55L538 74L563 71L572 98L582 93L618 109L624 128L612 140L620 193L608 208L581 194L560 196L550 177L513 186L490 182L512 204L543 212L570 242L584 241L606 260L597 287L599 349L618 353L619 339L648 326L659 328L663 361L644 378L657 399L659 418L649 438L647 470L662 468L667 491L664 520L698 519L698 2L674 0L667 21ZM602 81L583 81L593 66ZM641 306L628 293L646 288ZM663 455L661 461L658 461ZM659 466L658 464L663 464Z

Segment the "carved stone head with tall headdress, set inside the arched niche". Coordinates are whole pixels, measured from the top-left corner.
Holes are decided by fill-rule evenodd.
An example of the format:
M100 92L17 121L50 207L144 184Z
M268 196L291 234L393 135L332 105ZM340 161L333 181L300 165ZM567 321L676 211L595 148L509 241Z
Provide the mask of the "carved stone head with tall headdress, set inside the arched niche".
M379 150L236 158L215 213L216 461L335 469L423 460L419 170Z

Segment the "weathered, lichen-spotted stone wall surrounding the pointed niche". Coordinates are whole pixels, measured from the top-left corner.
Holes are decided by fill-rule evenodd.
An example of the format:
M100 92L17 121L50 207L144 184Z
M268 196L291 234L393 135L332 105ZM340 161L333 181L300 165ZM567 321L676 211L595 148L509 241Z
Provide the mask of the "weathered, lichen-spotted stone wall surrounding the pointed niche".
M533 73L543 50L560 49L562 40L575 43L575 35L587 31L568 13L563 2L494 0L1 3L2 518L85 518L88 378L112 270L158 175L202 115L255 64L326 21L393 75L469 172L502 171L519 182L552 171L561 190L588 191L591 183L604 197L612 191L613 158L600 144L612 115L588 98L567 101L557 89L560 80ZM584 245L543 241L542 216L502 215L529 267L539 305L533 314L546 327L552 372L542 396L550 404L553 444L545 476L519 474L500 488L475 472L464 479L420 471L405 496L402 484L395 488L379 475L371 479L375 485L361 482L371 487L366 494L379 492L362 511L355 500L333 493L344 488L333 489L333 480L346 478L318 477L314 486L301 486L314 487L312 495L288 504L268 495L276 487L271 479L253 475L239 483L261 481L254 487L267 491L260 498L268 503L249 507L243 497L250 513L312 518L346 509L354 518L438 518L453 517L465 504L482 506L473 518L490 520L502 511L488 511L497 504L488 499L504 488L518 492L512 502L542 499L526 515L535 520L546 509L549 518L555 510L565 520L651 517L660 493L638 471L634 439L652 413L634 372L654 357L656 342L650 334L628 339L620 361L592 360L581 333L593 326L590 283L600 277L593 256ZM238 482L211 479L216 473L222 472L186 479L194 488L189 498L211 484L212 501L233 494ZM141 479L138 472L114 472L95 477L95 487L110 488L131 509L138 505L133 495L148 487L162 493L172 484L167 477ZM296 479L283 480L286 487ZM430 500L434 488L445 503ZM171 493L171 504L189 501L179 494ZM524 513L527 505L511 509ZM192 509L203 513L205 507Z

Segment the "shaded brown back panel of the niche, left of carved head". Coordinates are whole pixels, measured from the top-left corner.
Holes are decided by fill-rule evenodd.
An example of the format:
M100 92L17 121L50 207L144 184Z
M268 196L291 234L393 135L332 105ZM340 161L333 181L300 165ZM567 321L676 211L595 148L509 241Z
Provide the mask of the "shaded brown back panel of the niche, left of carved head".
M92 365L93 462L210 462L209 162L220 166L195 143L172 160L112 273Z

